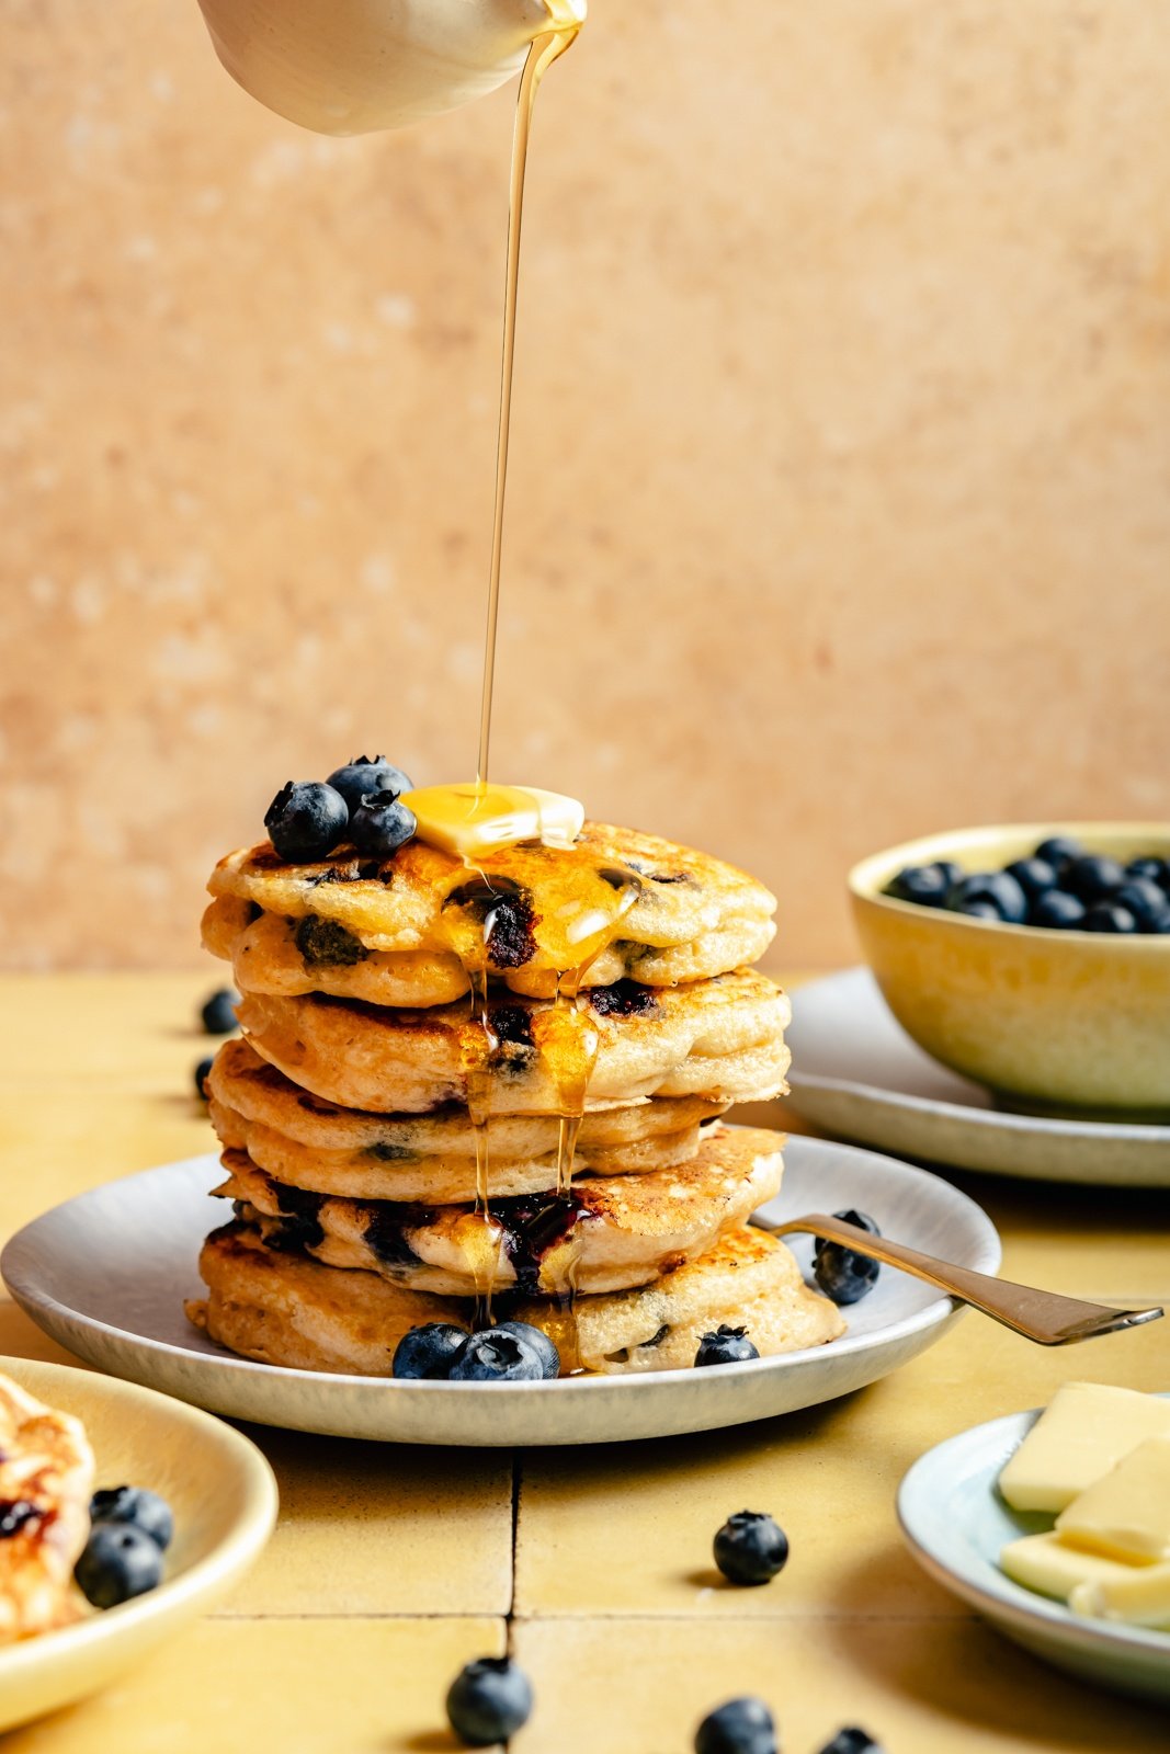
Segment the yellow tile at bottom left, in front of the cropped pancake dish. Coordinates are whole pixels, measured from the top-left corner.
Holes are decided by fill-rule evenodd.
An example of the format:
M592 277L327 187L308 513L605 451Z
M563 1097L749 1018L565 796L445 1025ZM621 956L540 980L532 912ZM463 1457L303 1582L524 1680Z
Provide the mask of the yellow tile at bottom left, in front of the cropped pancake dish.
M446 1754L456 1672L498 1619L203 1621L4 1754Z

